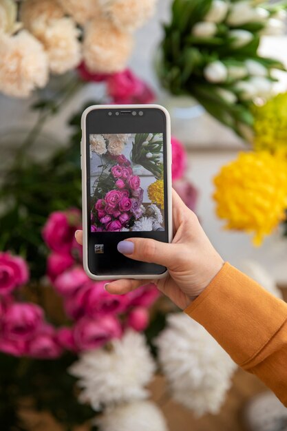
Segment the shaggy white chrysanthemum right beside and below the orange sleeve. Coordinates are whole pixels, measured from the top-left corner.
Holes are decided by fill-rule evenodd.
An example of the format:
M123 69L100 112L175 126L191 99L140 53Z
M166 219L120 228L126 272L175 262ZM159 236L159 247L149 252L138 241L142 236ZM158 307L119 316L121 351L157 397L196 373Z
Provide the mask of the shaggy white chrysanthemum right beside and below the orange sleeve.
M173 399L198 416L217 413L236 368L217 341L190 317L176 313L167 318L156 346Z

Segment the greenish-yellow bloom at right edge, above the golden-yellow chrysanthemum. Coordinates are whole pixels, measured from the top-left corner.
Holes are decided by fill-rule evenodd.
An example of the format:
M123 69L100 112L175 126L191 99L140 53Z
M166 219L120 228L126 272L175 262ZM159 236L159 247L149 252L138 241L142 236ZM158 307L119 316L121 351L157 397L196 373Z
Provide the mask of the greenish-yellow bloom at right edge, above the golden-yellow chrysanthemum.
M257 151L287 154L287 93L278 94L262 106L253 107L254 147Z

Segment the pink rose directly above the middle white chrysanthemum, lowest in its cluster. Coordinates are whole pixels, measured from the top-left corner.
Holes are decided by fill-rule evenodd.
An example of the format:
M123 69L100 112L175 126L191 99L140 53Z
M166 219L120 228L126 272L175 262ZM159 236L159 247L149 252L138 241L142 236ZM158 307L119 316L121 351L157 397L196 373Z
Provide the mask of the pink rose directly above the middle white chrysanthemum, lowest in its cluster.
M121 335L120 322L111 315L98 319L83 317L74 327L74 340L79 350L99 348L111 339L120 338Z

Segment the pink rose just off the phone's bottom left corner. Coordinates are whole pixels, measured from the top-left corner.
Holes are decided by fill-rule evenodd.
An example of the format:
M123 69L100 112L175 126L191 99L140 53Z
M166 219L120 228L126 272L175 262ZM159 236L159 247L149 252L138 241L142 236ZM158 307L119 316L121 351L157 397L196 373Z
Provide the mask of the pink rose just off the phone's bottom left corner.
M56 290L61 293L61 295L72 295L78 288L83 286L89 281L89 277L86 275L85 271L80 267L76 266L65 273L56 277L54 286Z

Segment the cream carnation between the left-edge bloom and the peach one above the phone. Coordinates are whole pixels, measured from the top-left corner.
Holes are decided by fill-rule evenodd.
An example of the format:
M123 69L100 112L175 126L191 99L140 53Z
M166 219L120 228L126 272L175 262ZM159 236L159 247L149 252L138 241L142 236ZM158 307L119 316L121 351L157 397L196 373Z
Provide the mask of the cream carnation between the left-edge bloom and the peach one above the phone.
M81 61L80 31L71 18L55 19L36 36L43 43L49 57L50 70L63 74L74 69Z

